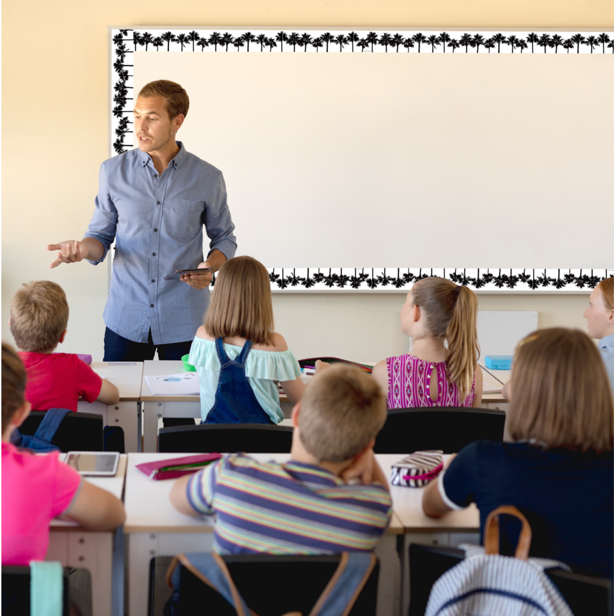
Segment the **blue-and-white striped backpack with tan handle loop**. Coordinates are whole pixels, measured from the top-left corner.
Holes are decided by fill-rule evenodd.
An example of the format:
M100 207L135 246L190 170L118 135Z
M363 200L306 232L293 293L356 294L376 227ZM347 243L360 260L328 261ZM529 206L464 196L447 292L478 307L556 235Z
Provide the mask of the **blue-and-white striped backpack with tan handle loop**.
M522 521L515 556L499 552L498 514ZM484 545L460 546L465 559L445 572L428 599L426 616L573 616L546 569L569 567L559 561L528 558L528 520L513 506L500 506L485 521Z

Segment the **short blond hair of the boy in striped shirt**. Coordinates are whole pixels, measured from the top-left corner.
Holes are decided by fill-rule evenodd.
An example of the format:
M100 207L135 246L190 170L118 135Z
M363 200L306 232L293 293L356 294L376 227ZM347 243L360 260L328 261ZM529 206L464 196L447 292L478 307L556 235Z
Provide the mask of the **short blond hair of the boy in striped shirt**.
M373 378L342 363L315 376L302 396L300 439L319 462L360 454L387 419L387 398Z

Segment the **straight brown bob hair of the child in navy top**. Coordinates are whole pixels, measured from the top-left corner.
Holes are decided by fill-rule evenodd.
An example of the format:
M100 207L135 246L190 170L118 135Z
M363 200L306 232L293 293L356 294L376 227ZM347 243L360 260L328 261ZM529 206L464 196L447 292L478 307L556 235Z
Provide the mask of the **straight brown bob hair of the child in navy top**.
M582 331L542 329L519 343L510 409L514 439L582 452L614 447L610 383L599 351Z

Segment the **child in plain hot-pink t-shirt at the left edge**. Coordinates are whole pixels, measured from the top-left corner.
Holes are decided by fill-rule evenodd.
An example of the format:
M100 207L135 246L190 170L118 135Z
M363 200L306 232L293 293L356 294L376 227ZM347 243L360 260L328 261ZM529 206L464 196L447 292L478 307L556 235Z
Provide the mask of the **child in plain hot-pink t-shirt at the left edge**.
M10 443L30 412L24 398L26 371L16 352L2 344L2 564L42 561L49 522L61 515L87 530L112 530L124 523L124 506L112 493L84 481L58 459Z

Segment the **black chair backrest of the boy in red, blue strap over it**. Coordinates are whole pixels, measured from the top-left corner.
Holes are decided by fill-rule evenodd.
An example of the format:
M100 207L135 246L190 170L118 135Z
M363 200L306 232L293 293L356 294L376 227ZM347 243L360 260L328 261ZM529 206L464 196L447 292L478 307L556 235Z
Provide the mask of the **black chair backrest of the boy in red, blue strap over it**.
M34 434L45 411L32 411L19 431ZM61 451L103 451L103 417L94 413L68 413L51 439Z

